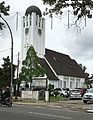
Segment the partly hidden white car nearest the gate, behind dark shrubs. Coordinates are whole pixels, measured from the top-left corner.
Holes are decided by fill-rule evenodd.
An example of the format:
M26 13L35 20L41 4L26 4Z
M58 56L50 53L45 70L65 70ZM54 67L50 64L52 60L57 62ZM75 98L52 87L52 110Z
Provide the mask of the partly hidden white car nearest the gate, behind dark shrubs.
M55 88L54 89L54 95L59 95L59 96L63 96L63 97L68 97L68 90L65 88Z

